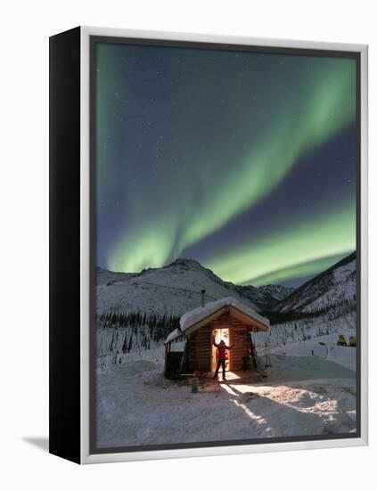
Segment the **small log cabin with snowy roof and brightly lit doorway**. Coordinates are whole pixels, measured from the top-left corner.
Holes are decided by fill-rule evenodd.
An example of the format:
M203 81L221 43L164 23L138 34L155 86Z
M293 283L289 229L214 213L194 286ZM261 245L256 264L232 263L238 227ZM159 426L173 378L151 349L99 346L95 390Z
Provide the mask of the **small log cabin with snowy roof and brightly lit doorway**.
M226 371L253 370L250 353L254 351L251 332L267 331L269 320L235 298L221 298L183 314L179 328L165 341L165 376L169 379L198 373L213 375L217 348L221 340L227 351ZM175 340L185 340L184 350L172 348Z

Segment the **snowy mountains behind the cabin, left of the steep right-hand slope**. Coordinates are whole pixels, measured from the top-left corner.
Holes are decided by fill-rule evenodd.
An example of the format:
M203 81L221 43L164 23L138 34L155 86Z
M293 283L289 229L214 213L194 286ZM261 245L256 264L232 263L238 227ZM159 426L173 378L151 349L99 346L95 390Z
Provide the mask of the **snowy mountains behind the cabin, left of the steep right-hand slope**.
M274 309L292 290L283 286L236 286L222 281L193 259L178 258L161 268L139 274L112 273L97 268L97 313L141 311L145 314L180 316L205 301L232 296L255 310Z

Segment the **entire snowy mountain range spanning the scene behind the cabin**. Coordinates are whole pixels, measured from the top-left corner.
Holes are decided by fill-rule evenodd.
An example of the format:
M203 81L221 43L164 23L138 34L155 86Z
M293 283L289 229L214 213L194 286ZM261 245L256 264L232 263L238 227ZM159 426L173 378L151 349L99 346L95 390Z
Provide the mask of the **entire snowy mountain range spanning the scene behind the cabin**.
M180 316L201 304L201 290L206 291L206 302L233 296L259 312L313 312L353 300L355 271L356 252L352 252L294 290L279 284L256 287L225 282L197 260L184 257L139 273L116 273L97 267L97 312L144 311Z

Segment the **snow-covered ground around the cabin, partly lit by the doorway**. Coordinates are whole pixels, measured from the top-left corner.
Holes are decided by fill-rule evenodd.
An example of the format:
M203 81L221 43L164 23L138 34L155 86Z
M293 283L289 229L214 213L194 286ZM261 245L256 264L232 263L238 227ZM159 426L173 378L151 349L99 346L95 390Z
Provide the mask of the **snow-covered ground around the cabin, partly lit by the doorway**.
M332 345L333 336L321 338ZM318 339L270 354L267 378L253 384L166 380L162 348L143 360L98 369L97 444L160 445L297 437L356 430L356 349L311 355ZM263 358L263 356L261 356ZM330 359L330 360L329 360ZM334 362L337 361L337 362Z

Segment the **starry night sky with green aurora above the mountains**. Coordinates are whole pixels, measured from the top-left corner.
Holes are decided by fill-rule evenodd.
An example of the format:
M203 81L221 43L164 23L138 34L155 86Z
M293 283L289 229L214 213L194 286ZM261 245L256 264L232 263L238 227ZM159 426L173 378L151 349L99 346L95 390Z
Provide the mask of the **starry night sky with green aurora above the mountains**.
M96 49L97 265L297 286L356 249L356 61Z

